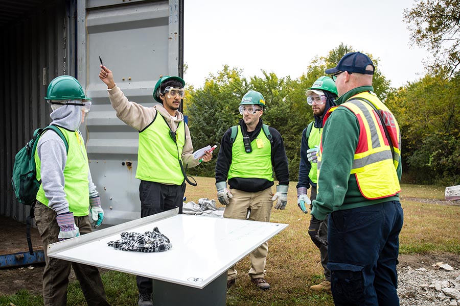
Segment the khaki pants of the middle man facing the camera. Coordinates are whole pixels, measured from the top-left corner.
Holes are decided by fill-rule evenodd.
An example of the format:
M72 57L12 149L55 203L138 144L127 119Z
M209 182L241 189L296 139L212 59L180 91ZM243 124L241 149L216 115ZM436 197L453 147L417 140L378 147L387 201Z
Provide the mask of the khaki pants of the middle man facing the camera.
M230 192L233 198L229 199L228 205L225 206L224 218L246 220L249 211L248 220L270 221L271 208L273 207L273 201L271 200L273 193L271 188L258 192L230 189ZM251 278L265 276L267 252L268 243L265 242L250 253L251 268L248 273ZM237 274L235 266L228 269L227 281L235 279Z

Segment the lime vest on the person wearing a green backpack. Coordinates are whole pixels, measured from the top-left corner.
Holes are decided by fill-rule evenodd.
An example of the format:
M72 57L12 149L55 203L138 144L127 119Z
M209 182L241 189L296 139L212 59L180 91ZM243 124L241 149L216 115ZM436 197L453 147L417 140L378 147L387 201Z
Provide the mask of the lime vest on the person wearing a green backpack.
M58 126L59 127L59 126ZM68 131L59 127L68 143L67 161L64 167L64 192L68 202L68 209L75 217L87 216L89 211L89 186L88 186L88 156L86 154L83 137L78 131ZM54 133L54 132L45 132ZM41 179L41 162L38 152L35 151L35 164L37 180ZM49 200L45 196L43 185L37 192L37 200L48 206Z

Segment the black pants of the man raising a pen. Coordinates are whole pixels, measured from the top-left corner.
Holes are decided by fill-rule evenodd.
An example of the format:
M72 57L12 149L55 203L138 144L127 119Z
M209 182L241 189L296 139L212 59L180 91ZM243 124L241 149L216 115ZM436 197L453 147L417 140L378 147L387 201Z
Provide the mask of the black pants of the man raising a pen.
M165 212L176 207L179 208L179 214L181 214L185 189L185 183L179 186L141 181L141 185L139 185L141 218ZM152 293L153 283L151 278L138 275L136 276L136 283L140 293Z

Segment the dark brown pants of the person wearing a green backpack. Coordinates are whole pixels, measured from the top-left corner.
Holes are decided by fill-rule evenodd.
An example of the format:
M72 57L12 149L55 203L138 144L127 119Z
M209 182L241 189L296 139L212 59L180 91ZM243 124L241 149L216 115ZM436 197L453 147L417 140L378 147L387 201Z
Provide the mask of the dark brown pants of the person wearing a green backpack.
M48 257L48 245L58 242L59 226L56 213L38 202L35 205L35 223L43 243L45 268L43 271L43 303L45 306L65 306L67 304L68 275L71 265L80 282L81 290L89 306L109 305L106 300L101 275L96 267ZM89 217L75 217L80 235L92 232ZM94 254L98 256L97 253Z

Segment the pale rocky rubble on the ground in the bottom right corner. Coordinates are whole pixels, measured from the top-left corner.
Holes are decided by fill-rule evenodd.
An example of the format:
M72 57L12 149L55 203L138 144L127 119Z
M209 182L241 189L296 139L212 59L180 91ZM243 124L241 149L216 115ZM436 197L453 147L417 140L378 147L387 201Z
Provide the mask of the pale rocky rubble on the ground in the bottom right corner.
M460 271L442 262L433 269L398 270L401 306L460 306Z

